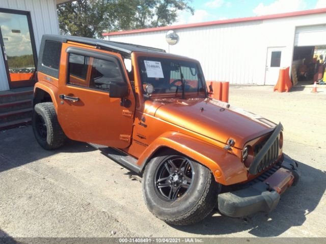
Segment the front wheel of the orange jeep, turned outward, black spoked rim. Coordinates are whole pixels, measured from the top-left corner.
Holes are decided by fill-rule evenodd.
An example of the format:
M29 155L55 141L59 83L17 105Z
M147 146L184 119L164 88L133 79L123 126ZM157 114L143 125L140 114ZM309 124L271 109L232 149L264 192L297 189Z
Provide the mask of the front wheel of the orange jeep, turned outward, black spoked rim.
M178 158L180 158L180 162L177 161ZM192 181L190 184L187 184L188 188L185 188L183 191L179 190L176 196L171 197L175 194L171 194L172 187L169 190L169 187L166 187L166 185L171 185L171 182L174 184L173 181L176 180L175 174L177 173L174 173L173 177L167 176L169 173L168 169L164 173L164 169L161 168L162 165L166 165L165 162L172 160L174 165L177 166L176 168L179 167L179 170L183 169L181 158L189 162L187 167L193 171L191 174ZM169 163L168 165L170 167L171 164ZM170 168L170 172L172 168ZM184 173L184 175L186 174L186 178L189 179L189 171ZM165 177L169 177L169 179L167 181L162 180ZM179 175L178 177L180 178L181 176ZM181 181L185 182L183 179ZM162 190L164 188L167 190ZM155 217L171 225L191 225L206 218L216 205L220 191L221 185L215 181L208 168L174 150L166 150L154 157L145 168L143 176L145 203Z

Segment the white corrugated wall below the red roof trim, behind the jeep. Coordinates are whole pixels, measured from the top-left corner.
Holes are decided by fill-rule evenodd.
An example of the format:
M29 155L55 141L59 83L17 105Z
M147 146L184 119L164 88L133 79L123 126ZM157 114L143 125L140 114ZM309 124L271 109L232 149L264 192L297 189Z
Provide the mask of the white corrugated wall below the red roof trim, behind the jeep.
M198 59L206 80L263 85L267 47L285 47L282 59L290 66L295 27L325 22L326 13L323 13L176 29L180 40L170 47L165 40L167 31L108 36L106 39L163 48Z

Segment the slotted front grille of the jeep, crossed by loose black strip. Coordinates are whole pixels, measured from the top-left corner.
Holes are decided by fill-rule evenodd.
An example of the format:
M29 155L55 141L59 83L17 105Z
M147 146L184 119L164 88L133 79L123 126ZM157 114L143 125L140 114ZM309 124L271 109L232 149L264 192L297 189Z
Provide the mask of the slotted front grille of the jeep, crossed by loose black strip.
M255 146L254 149L254 156L259 153L261 148L264 146L265 142L260 143ZM258 172L261 172L262 170L266 169L270 165L272 165L279 156L279 138L277 137L276 140L271 144L271 146L268 148L267 153L264 155L262 160L259 162L259 165L257 167Z

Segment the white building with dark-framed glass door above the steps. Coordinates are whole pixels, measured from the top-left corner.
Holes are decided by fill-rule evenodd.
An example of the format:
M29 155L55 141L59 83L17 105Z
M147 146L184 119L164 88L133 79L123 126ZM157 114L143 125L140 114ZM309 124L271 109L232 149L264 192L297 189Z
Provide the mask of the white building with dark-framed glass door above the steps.
M57 4L67 0L0 1L0 90L32 86L43 34L59 34Z

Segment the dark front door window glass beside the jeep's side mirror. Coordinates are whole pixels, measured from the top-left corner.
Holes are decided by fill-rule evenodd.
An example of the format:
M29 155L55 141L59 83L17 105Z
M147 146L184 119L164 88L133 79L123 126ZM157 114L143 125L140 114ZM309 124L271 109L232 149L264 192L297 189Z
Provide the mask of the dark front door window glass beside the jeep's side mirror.
M109 92L111 82L123 82L122 74L117 64L113 61L94 58L90 87Z

